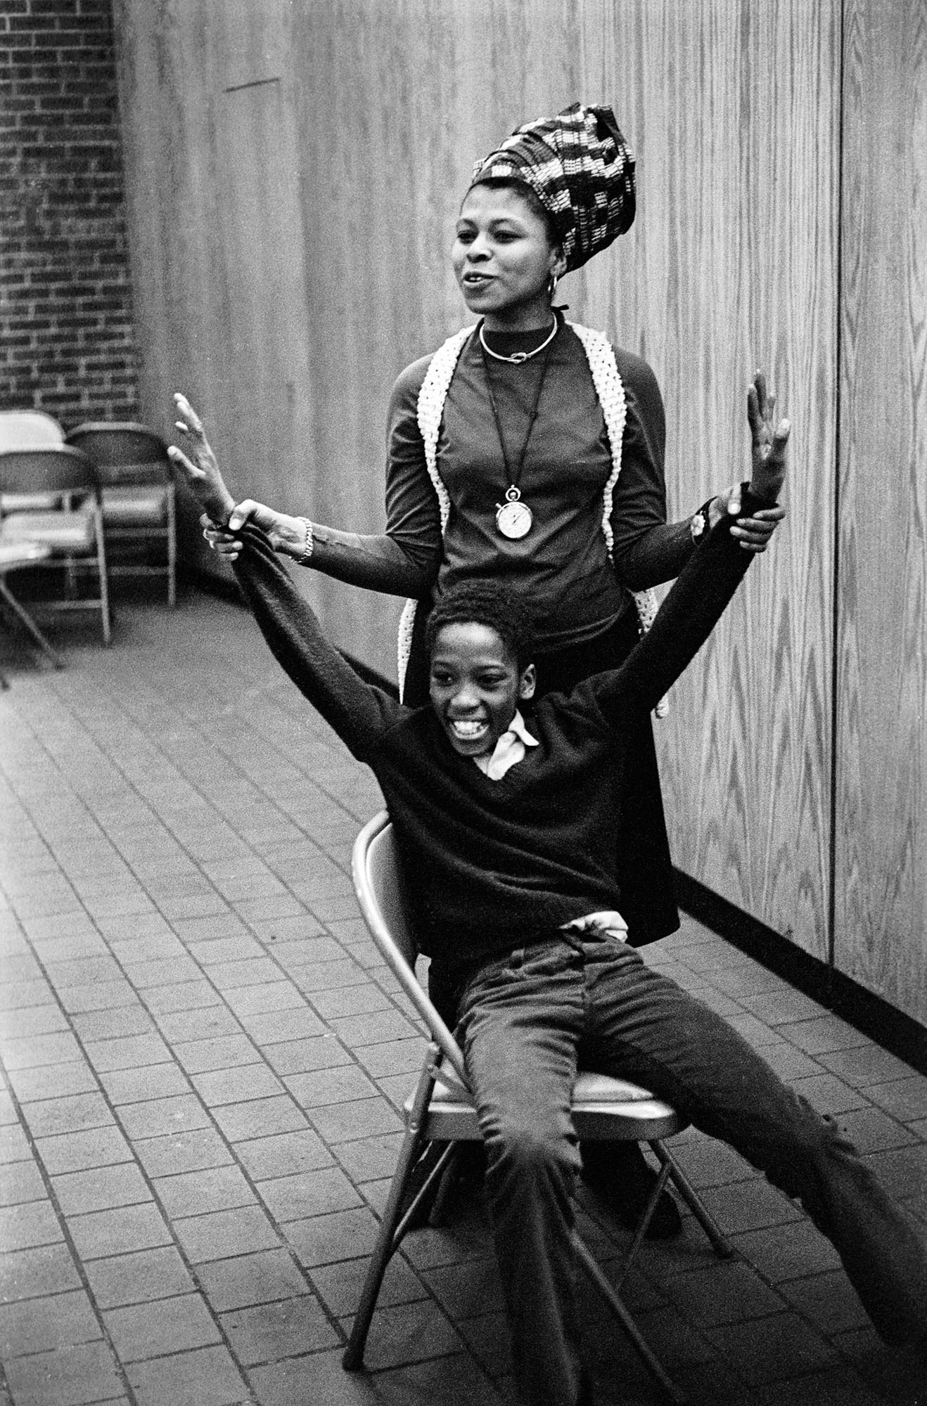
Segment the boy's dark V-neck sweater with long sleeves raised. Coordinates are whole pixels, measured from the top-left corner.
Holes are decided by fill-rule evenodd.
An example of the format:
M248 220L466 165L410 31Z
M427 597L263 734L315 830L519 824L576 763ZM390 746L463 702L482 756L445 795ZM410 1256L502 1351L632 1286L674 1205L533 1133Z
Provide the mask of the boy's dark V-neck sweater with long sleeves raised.
M757 506L744 494L743 516ZM619 669L523 710L540 745L498 782L454 752L430 707L404 707L363 682L264 534L246 526L242 538L236 575L274 657L380 782L412 879L422 950L453 970L571 918L620 911L615 817L634 804L623 787L626 723L665 693L744 575L751 554L727 520L692 553Z

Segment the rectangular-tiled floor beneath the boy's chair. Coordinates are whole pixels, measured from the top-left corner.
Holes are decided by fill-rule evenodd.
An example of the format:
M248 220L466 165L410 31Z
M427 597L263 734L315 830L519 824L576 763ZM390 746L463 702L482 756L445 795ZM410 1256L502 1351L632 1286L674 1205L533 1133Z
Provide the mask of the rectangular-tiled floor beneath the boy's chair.
M59 638L65 672L14 658L0 695L0 1402L512 1400L478 1212L407 1240L370 1374L340 1368L422 1049L352 896L376 786L231 605ZM927 1225L927 1078L692 921L648 959ZM739 1250L688 1218L633 1275L692 1402L926 1402L795 1205L722 1144L677 1150ZM582 1216L616 1261L623 1233ZM656 1403L591 1294L588 1324L602 1400Z

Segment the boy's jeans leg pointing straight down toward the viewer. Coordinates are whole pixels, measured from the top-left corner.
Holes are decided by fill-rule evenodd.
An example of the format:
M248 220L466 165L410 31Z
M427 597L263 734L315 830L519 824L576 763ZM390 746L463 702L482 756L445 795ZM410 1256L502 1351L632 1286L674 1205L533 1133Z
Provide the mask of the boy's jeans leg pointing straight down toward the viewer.
M582 959L556 942L484 967L461 1001L515 1375L529 1406L573 1406L584 1382L570 1243L582 1007Z

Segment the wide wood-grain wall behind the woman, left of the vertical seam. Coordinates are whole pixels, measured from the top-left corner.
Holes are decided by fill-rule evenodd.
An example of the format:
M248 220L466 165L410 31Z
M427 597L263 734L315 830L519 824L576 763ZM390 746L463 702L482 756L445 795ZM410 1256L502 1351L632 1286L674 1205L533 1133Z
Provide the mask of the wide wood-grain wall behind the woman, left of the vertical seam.
M861 24L867 10L923 10L117 0L145 413L169 423L169 392L187 389L239 494L359 530L383 523L394 377L466 321L447 253L473 160L577 97L615 107L637 155L639 217L563 290L573 316L654 366L674 512L746 474L755 366L795 426L788 529L658 724L674 852L824 959L841 6ZM859 82L878 87L874 63ZM923 121L923 86L912 91ZM841 426L845 456L854 430ZM844 513L841 541L851 527ZM201 551L193 534L188 546ZM391 673L398 602L298 579L339 641ZM913 603L906 619L910 636ZM909 640L904 658L913 686L923 651Z

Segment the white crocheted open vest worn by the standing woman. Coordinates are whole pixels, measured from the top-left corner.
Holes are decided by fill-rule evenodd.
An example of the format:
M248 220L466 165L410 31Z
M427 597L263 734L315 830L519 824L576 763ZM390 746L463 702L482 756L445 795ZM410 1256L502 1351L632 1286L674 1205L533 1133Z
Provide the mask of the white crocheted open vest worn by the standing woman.
M612 456L612 472L609 474L602 494L602 534L605 536L605 544L608 547L610 561L615 547L610 522L612 498L618 475L622 471L622 440L625 437L625 418L627 413L625 404L625 385L619 375L615 352L612 350L612 344L608 337L605 337L601 332L592 330L591 328L581 326L578 322L568 322L567 325L573 328L575 335L580 337L587 361L589 363L592 384L595 385L595 394L599 399L599 405L602 406L602 418L605 420L609 453ZM447 519L450 517L450 496L440 474L437 472L437 434L440 432L445 401L447 399L447 391L450 389L457 359L460 357L464 343L471 333L473 328L461 328L460 332L454 332L452 337L447 337L447 340L439 346L429 363L428 371L425 373L422 389L418 392L418 426L425 444L425 467L428 468L428 477L430 478L432 486L437 494L442 537L445 536ZM636 591L633 595L634 605L637 606L640 631L643 634L654 621L658 602L656 592L653 591ZM409 661L409 651L412 648L415 606L415 600L407 600L399 617L399 696L402 696L404 692L405 669ZM667 700L661 699L657 704L657 717L663 717L665 711Z

